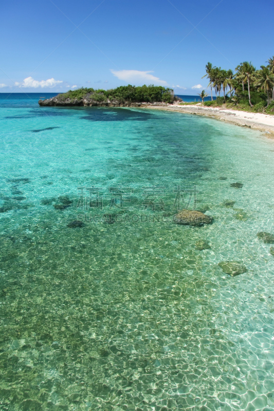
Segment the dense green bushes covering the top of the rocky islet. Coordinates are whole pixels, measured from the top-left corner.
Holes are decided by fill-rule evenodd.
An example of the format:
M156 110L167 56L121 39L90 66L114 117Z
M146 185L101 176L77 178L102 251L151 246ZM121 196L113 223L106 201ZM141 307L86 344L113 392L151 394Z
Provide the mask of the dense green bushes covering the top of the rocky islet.
M87 98L98 103L107 103L107 101L118 101L119 103L135 102L135 103L154 103L166 102L172 103L174 99L174 92L171 88L161 86L127 86L117 87L112 90L94 90L93 88L79 88L78 90L69 90L64 94L58 95L60 101L69 99L83 99Z

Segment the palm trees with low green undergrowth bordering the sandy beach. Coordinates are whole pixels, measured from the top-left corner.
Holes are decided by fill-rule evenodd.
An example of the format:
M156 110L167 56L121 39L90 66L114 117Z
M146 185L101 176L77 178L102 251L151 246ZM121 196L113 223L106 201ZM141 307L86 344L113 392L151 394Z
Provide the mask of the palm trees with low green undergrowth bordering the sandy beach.
M253 113L273 114L274 56L266 63L266 66L256 70L251 62L246 61L235 68L235 73L230 69L223 70L221 67L213 67L211 63L207 63L204 77L209 79L211 101L205 101L203 104L220 106L226 103L228 108L236 107ZM216 100L213 100L212 89L215 90ZM221 91L224 97L221 97ZM202 97L202 94L199 96Z

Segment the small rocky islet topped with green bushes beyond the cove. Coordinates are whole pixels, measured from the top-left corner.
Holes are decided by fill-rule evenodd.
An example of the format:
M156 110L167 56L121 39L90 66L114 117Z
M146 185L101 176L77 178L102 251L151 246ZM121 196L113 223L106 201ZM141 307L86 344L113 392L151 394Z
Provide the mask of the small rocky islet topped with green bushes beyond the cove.
M141 107L169 105L182 101L174 96L171 88L162 86L121 86L111 90L79 88L56 97L39 100L40 106L95 106L95 107Z

